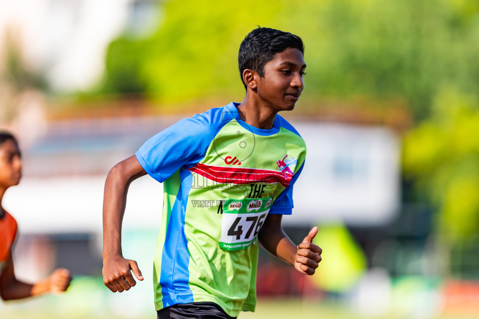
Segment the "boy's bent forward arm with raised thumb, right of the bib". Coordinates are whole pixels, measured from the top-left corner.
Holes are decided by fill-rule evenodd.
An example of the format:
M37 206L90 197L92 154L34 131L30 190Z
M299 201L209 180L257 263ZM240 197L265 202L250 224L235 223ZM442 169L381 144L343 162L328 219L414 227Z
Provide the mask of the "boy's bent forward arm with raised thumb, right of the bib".
M264 221L258 239L264 249L272 255L294 266L297 271L313 275L321 261L322 250L312 243L318 233L318 227L313 227L303 242L295 245L281 227L281 214L269 214Z

